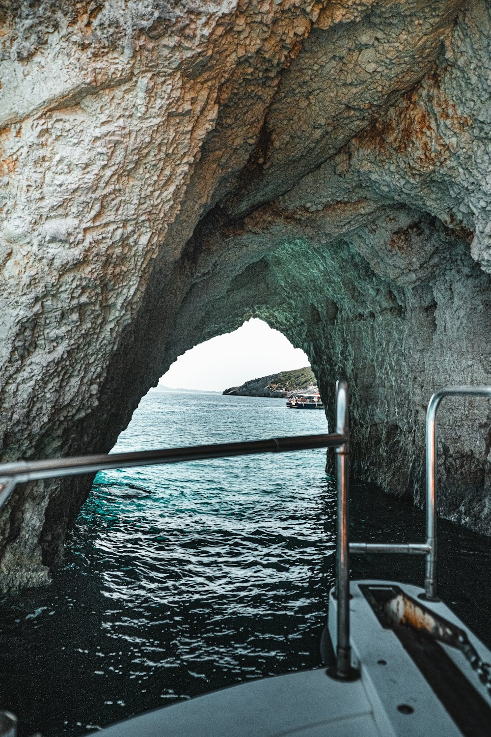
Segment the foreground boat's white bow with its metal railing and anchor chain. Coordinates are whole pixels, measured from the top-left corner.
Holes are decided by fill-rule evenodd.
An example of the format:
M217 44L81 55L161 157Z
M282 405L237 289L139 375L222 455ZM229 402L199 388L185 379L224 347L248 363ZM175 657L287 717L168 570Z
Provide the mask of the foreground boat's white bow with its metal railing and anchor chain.
M448 396L491 397L491 386L443 388L430 399L426 530L425 539L419 542L350 542L348 538L350 432L345 382L336 386L333 433L1 464L0 507L17 483L56 476L319 447L336 453L336 584L326 592L322 665L158 708L105 727L98 734L490 737L491 651L440 601L437 590L435 425L439 403ZM383 579L350 581L350 555L367 553L422 556L424 586ZM15 737L15 724L11 713L0 713L0 735Z

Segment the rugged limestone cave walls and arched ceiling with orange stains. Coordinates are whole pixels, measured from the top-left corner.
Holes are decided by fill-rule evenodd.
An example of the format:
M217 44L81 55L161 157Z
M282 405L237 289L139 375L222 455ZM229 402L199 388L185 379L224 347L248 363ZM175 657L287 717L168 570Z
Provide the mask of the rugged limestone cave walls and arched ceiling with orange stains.
M5 460L109 450L201 340L264 318L353 396L358 477L419 497L434 388L490 380L484 0L2 0ZM441 413L442 514L491 531L490 407ZM90 480L19 488L2 585Z

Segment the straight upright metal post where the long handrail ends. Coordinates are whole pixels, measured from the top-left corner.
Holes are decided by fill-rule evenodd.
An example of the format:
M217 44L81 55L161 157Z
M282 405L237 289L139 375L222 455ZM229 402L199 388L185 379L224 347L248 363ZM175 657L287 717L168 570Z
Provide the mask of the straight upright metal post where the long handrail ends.
M336 537L336 598L337 643L336 666L328 674L339 680L355 680L358 671L351 667L350 646L350 553L348 540L350 424L348 417L347 384L336 383L336 433L345 442L336 447L337 537Z

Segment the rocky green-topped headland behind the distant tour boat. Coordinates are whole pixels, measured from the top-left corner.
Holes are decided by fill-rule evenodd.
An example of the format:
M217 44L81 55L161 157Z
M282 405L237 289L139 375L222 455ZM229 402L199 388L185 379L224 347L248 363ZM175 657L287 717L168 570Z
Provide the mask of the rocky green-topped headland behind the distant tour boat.
M310 366L280 371L259 379L250 379L241 386L231 386L223 394L234 397L290 397L292 394L317 394L317 379Z

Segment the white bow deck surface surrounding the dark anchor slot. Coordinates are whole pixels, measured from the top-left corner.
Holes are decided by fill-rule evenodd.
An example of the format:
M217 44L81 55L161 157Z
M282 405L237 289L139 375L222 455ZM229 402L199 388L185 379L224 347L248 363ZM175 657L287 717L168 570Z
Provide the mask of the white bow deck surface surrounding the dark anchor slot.
M428 685L392 629L384 629L358 584L352 581L350 601L353 664L361 678L339 682L325 668L265 678L198 696L136 716L102 730L105 737L457 737L491 735L462 731ZM400 584L395 584L400 585ZM417 598L422 589L404 585ZM331 593L329 629L336 645L336 600ZM425 606L465 629L484 659L491 652L465 628L445 604ZM491 699L464 655L441 646L487 705Z

